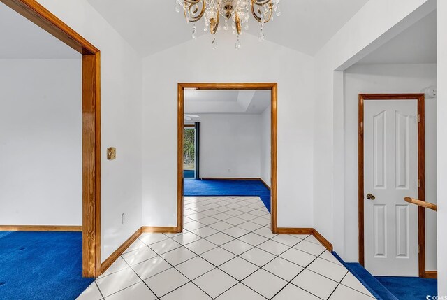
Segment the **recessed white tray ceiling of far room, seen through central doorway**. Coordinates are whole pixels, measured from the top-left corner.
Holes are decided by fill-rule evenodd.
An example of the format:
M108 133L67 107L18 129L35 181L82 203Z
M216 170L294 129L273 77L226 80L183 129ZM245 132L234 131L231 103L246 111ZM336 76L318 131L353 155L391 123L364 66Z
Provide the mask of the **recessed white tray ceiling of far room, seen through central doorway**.
M185 113L258 115L269 105L270 90L184 91Z

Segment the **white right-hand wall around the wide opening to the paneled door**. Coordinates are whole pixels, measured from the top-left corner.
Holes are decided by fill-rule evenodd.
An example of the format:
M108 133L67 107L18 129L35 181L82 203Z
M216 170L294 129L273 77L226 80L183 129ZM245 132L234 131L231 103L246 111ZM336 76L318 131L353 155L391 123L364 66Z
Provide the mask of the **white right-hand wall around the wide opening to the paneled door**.
M315 57L316 106L314 119L314 220L315 227L344 257L344 110L343 77L339 71L358 62L404 29L437 8L437 128L447 120L447 2L435 0L376 0L365 6L340 29ZM336 137L336 138L335 138ZM447 141L437 131L437 194L447 194ZM447 294L446 199L437 204L438 294Z

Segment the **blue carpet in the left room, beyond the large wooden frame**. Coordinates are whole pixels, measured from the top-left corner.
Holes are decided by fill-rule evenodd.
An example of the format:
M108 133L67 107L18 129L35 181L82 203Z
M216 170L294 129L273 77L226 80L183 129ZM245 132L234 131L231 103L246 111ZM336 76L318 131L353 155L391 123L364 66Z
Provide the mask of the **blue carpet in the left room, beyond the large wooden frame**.
M0 299L75 299L93 280L82 278L81 232L0 235Z

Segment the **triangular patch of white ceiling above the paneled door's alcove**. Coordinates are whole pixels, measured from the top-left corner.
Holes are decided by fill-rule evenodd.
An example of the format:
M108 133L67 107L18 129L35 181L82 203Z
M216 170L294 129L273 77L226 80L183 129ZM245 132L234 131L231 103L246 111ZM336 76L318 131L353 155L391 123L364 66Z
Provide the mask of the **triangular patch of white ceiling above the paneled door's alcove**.
M436 64L436 10L357 64Z

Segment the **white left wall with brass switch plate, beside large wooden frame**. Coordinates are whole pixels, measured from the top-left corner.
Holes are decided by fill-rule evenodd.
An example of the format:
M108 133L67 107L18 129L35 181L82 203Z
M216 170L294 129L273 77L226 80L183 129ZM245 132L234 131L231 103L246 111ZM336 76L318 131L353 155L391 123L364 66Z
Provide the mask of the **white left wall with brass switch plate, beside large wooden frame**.
M141 227L142 69L137 52L87 0L38 0L101 50L101 261ZM108 161L106 149L117 148ZM126 224L121 214L126 213Z

